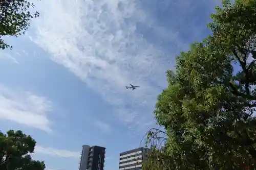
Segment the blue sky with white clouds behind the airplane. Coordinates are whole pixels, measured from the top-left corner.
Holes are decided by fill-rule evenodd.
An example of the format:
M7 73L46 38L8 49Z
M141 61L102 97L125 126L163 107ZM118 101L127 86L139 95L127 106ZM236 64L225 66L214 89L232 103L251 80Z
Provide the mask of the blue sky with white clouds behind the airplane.
M81 146L106 148L105 170L156 127L165 71L210 34L219 1L43 0L26 34L0 51L0 125L36 141L34 159L77 170ZM129 83L140 85L125 89Z

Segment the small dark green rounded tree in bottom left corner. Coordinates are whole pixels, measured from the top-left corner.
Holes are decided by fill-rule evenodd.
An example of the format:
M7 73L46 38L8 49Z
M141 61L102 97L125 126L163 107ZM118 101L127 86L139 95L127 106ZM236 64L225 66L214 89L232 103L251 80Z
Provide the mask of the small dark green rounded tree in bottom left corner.
M22 131L0 132L0 169L44 170L45 163L32 160L36 141Z

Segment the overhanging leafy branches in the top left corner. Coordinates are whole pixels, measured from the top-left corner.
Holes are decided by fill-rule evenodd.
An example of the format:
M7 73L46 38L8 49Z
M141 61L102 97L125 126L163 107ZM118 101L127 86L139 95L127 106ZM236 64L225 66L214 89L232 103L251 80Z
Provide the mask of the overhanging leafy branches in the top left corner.
M26 0L0 1L0 48L12 47L5 43L3 36L18 36L25 33L30 25L30 19L38 17L39 13L30 13L34 4Z

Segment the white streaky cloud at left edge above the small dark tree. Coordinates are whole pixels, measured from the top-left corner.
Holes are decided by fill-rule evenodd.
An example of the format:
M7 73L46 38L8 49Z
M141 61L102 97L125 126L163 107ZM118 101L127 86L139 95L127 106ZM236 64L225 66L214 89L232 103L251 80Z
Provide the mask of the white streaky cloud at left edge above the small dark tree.
M0 84L0 119L51 133L51 121L47 117L49 111L51 102L46 98Z

